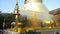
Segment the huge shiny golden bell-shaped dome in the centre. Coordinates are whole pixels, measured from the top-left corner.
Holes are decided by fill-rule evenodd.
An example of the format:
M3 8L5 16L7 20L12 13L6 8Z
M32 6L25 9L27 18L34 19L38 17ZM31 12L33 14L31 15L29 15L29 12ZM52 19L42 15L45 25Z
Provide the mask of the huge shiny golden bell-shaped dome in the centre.
M42 3L42 0L25 0L22 8L22 15L26 15L32 27L39 26L39 22L52 21L49 10Z

